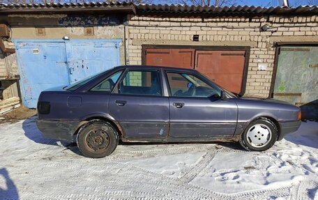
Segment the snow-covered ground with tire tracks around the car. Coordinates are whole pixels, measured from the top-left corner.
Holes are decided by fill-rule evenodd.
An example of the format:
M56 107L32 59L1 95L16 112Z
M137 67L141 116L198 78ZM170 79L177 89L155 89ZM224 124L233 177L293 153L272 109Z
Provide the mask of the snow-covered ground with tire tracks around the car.
M239 144L119 145L90 159L35 118L0 125L0 199L318 199L318 123L270 150Z

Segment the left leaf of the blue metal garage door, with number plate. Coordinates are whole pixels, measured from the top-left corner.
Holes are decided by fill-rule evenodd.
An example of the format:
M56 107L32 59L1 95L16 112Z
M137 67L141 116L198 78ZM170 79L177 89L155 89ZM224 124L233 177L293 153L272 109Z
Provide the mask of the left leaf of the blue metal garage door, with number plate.
M17 43L22 100L36 108L41 91L68 84L65 43Z

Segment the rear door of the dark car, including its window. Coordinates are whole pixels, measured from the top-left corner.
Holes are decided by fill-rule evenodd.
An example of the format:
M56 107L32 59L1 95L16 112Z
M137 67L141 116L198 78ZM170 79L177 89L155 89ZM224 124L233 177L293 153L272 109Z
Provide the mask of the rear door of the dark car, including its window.
M126 139L167 137L169 100L159 70L129 69L109 98L109 114Z

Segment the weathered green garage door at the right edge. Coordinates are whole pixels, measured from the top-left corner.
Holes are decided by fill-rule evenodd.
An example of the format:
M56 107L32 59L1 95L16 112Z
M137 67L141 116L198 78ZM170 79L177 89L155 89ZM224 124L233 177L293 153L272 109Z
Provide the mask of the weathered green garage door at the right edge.
M279 48L273 98L301 105L305 118L318 119L318 47Z

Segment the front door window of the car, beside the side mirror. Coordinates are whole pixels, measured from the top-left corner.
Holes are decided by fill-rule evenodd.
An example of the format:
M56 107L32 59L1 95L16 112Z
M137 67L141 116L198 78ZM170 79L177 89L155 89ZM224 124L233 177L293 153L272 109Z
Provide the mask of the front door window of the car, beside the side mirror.
M174 97L220 98L220 89L213 88L202 79L187 73L167 72L170 93Z

